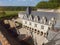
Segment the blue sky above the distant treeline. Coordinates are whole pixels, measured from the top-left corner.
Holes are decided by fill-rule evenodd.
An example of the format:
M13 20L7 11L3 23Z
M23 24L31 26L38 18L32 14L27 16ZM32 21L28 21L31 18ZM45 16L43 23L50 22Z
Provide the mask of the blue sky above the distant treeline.
M0 0L0 6L35 6L41 0Z

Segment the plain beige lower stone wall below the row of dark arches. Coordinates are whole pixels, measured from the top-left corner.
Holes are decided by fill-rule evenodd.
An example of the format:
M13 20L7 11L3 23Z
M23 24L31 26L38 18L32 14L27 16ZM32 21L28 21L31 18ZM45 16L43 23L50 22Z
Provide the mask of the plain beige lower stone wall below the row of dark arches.
M42 45L43 43L47 43L48 40L44 37L44 35L40 35L37 33L32 33L33 34L33 40L34 40L34 45Z

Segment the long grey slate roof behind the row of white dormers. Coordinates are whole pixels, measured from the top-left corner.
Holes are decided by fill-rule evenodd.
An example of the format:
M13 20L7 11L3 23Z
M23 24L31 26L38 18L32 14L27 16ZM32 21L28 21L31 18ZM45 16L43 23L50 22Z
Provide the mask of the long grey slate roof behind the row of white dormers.
M21 14L26 14L27 12L20 12ZM48 21L52 18L52 17L55 17L56 19L56 25L55 25L55 28L60 28L60 14L59 13L54 13L54 12L39 12L39 11L32 11L31 12L31 15L33 16L39 16L40 19L43 17L43 16L46 16ZM29 16L29 15L28 15Z

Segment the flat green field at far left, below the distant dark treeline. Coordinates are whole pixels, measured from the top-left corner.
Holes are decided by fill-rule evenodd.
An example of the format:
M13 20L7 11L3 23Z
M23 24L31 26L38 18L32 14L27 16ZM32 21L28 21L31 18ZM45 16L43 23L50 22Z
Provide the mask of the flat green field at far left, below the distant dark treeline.
M2 17L12 17L18 15L19 11L0 11L0 18Z

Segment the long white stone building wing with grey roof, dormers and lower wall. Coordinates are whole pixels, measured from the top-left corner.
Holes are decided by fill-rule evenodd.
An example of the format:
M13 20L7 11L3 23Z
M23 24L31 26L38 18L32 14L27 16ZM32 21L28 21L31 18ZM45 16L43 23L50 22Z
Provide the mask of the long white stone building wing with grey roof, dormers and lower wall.
M35 45L36 43L37 45L42 45L42 43L47 43L49 40L52 40L54 36L49 30L60 28L60 15L55 12L32 11L29 13L28 11L28 13L19 12L18 16L22 19L23 27L30 31L29 35L33 37Z

